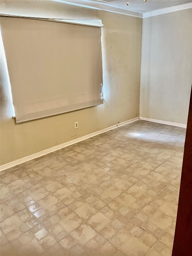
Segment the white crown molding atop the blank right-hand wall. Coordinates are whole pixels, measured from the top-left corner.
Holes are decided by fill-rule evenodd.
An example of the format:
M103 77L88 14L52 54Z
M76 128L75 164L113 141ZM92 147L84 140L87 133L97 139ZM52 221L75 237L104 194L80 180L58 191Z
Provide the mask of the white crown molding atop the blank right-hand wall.
M177 5L177 6L172 6L172 7L156 10L156 11L143 13L143 18L157 16L157 15L161 15L161 14L165 14L165 13L169 13L169 12L181 11L181 10L190 9L190 8L192 8L192 3L181 4L181 5Z

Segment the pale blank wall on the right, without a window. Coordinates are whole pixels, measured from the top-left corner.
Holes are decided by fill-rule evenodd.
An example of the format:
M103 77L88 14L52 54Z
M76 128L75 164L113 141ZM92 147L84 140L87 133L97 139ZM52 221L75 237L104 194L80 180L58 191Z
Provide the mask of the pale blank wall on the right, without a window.
M140 116L187 124L192 9L143 19Z

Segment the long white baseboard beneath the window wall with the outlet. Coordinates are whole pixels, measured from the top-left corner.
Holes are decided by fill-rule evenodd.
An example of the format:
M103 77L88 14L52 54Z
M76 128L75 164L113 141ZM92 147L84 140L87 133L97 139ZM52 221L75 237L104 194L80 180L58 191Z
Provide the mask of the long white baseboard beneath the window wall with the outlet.
M125 122L121 122L121 123L119 123L119 124L112 125L112 126L110 126L110 127L107 127L107 128L105 128L105 129L102 129L102 130L100 130L100 131L93 132L93 133L88 134L88 135L85 135L85 136L83 136L83 137L80 137L80 138L77 138L77 139L74 139L74 140L71 140L71 141L62 143L62 144L60 144L60 145L58 145L58 146L45 149L45 150L40 151L40 152L38 152L38 153L32 154L32 155L30 155L30 156L22 157L22 158L17 159L17 160L15 160L15 161L13 161L13 162L10 162L10 163L7 163L7 164L3 164L3 165L0 166L0 171L6 170L6 169L11 168L11 167L14 167L14 166L16 166L16 165L18 165L18 164L22 164L22 163L24 163L24 162L30 161L30 160L32 160L32 159L34 159L34 158L37 158L37 157L40 157L40 156L49 154L49 153L51 153L51 152L53 152L53 151L56 151L56 150L58 150L58 149L68 147L68 146L70 146L70 145L72 145L72 144L75 144L75 143L77 143L77 142L80 142L80 141L82 141L82 140L89 139L89 138L94 137L94 136L96 136L96 135L99 135L99 134L101 134L101 133L110 131L110 130L112 130L112 129L115 129L115 128L117 128L117 127L119 127L119 126L122 126L122 125L125 125L125 124L129 124L129 123L135 122L135 121L137 121L137 120L139 120L139 117L130 119L130 120L125 121Z

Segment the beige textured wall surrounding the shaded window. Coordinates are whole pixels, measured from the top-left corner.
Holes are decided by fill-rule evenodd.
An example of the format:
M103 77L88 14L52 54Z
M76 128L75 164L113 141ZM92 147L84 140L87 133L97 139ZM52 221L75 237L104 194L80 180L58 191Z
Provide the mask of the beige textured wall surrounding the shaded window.
M16 124L1 61L1 165L139 116L142 19L57 1L1 0L1 13L104 24L102 105Z

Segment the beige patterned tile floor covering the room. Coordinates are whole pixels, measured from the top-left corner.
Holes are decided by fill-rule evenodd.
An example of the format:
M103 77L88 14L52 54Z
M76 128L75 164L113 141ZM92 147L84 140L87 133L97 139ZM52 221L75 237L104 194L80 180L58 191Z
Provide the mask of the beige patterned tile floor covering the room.
M169 256L186 129L136 121L0 173L1 256Z

